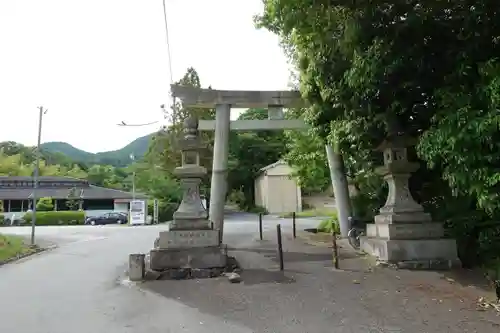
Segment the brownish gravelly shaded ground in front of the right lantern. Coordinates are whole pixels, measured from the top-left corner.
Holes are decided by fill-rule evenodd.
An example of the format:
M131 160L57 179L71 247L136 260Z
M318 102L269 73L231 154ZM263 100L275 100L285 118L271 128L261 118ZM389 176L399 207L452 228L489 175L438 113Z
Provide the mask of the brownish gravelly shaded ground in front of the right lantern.
M268 230L265 239L274 235ZM331 249L286 237L285 272L273 241L231 238L241 284L225 278L143 284L202 313L252 332L499 332L500 316L478 311L481 291L435 272L373 267L347 246L341 270Z

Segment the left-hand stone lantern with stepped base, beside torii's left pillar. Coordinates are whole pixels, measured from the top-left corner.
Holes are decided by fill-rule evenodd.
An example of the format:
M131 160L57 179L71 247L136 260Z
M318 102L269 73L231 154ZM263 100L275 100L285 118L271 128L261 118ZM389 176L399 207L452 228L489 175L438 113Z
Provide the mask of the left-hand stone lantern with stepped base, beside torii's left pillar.
M206 169L200 166L200 150L204 148L198 135L198 120L184 122L184 137L179 141L182 166L175 175L180 178L182 202L174 213L169 231L161 231L150 253L150 269L154 271L204 271L226 266L227 256L219 244L217 230L212 230L207 211L200 198L200 183Z

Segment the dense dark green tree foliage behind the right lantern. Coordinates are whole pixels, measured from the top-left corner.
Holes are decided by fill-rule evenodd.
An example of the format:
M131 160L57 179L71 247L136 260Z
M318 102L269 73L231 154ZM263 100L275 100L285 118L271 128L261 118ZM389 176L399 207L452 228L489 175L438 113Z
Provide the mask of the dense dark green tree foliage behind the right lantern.
M258 24L282 38L319 137L367 173L386 135L416 137L416 197L458 237L465 263L498 256L498 223L487 222L500 215L498 3L264 4Z

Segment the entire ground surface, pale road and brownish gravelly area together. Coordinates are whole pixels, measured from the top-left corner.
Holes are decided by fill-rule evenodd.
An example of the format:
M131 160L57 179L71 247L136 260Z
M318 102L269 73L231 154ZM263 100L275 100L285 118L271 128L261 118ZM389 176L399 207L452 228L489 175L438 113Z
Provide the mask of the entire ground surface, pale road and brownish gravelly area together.
M275 230L283 226L285 272ZM317 221L298 220L299 230ZM433 272L369 269L341 248L290 239L289 221L231 214L225 242L244 267L225 278L127 282L129 253L147 252L164 226L43 227L58 248L0 267L0 332L498 332L500 316L475 309L477 293ZM0 232L29 234L29 228ZM361 263L361 264L360 264Z

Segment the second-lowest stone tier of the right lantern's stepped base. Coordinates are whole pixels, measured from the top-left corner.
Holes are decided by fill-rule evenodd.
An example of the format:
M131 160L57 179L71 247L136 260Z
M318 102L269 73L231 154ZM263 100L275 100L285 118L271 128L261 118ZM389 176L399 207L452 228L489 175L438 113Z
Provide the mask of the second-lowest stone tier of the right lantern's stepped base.
M441 239L444 228L441 223L395 223L395 224L368 224L366 226L368 238L382 239Z

